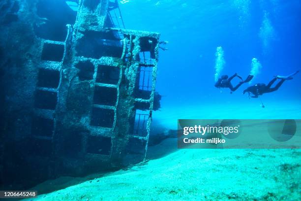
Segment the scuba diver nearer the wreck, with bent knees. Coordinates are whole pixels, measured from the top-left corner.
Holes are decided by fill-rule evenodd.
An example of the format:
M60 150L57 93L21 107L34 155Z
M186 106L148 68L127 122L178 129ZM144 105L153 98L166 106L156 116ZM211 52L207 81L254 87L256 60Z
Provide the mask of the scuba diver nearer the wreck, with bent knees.
M236 85L235 87L233 87L231 84L231 80L234 77L238 77L241 79L240 83L238 83L238 85ZM221 78L217 80L214 86L216 88L229 88L232 94L232 92L236 91L243 83L251 81L253 77L253 75L248 75L245 80L242 80L241 76L239 76L237 73L235 73L231 77L229 77L228 75L222 75Z

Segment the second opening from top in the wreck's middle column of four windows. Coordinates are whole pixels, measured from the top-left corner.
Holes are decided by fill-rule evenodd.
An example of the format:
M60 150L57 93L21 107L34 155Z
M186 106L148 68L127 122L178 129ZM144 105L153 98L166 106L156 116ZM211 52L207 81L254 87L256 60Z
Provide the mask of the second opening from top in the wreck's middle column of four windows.
M117 88L95 86L94 104L115 106L117 102Z

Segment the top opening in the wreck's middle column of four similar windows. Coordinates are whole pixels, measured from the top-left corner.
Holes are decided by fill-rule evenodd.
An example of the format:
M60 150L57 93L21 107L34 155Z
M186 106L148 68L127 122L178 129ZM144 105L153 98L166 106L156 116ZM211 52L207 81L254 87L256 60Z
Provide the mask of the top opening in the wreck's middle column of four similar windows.
M98 65L96 82L105 84L118 84L119 75L119 67Z

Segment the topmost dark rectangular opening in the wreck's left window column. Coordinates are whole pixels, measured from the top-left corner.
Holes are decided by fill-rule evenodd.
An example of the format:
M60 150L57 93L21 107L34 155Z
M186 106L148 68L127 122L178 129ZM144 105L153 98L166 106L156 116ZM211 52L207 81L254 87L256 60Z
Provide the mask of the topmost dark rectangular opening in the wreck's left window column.
M61 62L64 55L64 49L64 45L44 43L41 59Z

